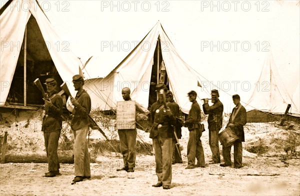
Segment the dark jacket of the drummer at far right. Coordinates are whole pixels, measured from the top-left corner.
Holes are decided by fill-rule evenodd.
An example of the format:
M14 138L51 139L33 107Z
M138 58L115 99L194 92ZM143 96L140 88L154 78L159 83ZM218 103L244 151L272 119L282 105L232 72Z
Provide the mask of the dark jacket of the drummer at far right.
M240 141L245 141L243 125L245 125L247 123L247 115L246 115L246 109L242 105L240 105L240 109L238 110L235 118L232 121L232 116L235 115L235 112L239 105L240 105L240 103L232 109L228 124L233 123L234 127L230 127L230 128L238 136Z

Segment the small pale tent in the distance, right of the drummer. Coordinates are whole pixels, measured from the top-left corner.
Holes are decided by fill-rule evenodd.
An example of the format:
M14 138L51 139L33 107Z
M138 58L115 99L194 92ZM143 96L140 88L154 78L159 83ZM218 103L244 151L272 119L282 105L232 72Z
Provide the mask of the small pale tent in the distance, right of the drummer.
M299 113L299 102L291 99L276 68L271 51L268 52L255 85L254 91L246 102L247 111L259 110L272 114L283 114L287 104L291 104L291 114Z

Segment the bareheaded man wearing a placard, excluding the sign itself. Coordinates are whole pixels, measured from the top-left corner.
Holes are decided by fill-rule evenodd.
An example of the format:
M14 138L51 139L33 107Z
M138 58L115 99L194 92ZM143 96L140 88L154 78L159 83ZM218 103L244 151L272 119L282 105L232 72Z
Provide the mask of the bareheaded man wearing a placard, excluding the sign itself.
M122 97L125 101L130 101L130 89L124 87L122 89ZM147 119L149 111L143 108L140 104L135 102L135 119ZM118 109L117 109L118 116ZM118 122L117 122L118 123ZM135 124L135 121L134 121ZM118 128L118 127L117 127ZM127 172L134 172L135 166L135 144L136 144L136 128L125 128L117 130L120 141L120 150L123 155L124 167L116 169L117 171L125 170Z

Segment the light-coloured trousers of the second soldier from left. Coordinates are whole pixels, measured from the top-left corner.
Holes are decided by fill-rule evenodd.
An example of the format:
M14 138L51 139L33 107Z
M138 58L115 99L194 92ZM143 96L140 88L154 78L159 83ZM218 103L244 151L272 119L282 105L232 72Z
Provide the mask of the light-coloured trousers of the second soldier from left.
M88 126L73 130L75 176L90 176L89 153L86 135Z

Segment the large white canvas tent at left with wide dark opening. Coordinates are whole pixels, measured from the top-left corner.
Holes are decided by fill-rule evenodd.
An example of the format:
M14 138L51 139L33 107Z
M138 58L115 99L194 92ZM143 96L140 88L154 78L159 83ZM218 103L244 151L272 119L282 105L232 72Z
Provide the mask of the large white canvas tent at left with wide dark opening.
M79 59L55 33L37 0L8 0L1 7L0 41L0 106L7 106L7 100L23 106L34 103L34 94L40 95L32 84L36 77L71 84L78 74ZM70 91L74 93L72 86Z

